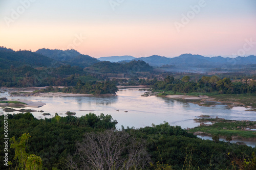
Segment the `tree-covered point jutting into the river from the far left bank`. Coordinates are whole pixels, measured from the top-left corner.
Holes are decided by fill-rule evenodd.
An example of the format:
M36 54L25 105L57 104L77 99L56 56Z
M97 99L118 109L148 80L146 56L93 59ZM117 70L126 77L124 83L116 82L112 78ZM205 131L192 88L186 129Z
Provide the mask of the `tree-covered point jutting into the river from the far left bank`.
M117 86L111 81L103 82L82 82L78 80L76 86L68 86L63 88L49 86L35 92L65 92L79 94L115 94L118 91Z

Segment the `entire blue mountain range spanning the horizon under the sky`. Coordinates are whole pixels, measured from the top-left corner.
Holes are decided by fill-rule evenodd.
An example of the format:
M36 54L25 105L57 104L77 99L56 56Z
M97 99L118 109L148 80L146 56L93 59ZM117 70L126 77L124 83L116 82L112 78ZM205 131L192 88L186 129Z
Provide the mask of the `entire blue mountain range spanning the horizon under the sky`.
M13 51L11 48L0 46L0 68L10 68L13 66L31 65L33 67L55 66L58 65L72 65L79 67L88 67L101 61L110 62L130 62L142 60L151 66L173 66L173 68L209 68L209 67L223 67L223 66L239 66L256 64L256 56L224 58L218 57L204 57L201 55L182 54L178 57L167 58L163 56L153 55L150 57L135 58L133 56L112 56L94 57L80 54L75 50L50 50L41 48L36 52L31 51ZM57 65L56 65L57 63Z

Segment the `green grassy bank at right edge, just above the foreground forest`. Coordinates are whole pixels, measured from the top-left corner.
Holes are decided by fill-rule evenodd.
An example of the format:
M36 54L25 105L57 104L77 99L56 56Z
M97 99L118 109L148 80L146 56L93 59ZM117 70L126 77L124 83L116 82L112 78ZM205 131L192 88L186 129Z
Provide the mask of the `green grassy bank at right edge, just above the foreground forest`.
M216 122L210 126L199 126L190 129L189 132L205 132L206 134L219 134L220 136L236 136L239 138L256 139L255 131L245 131L244 128L250 128L256 125L256 122L225 120L219 118L195 119L197 122Z

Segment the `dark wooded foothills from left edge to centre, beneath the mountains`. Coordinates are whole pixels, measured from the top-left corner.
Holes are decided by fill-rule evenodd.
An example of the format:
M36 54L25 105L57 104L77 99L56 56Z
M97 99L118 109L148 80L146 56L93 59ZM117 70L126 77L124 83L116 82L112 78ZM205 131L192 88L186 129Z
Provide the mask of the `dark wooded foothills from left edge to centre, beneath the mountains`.
M123 78L150 76L153 70L143 61L131 61L125 64L99 62L97 64L95 66L99 69L94 69L96 67L83 69L70 65L37 68L28 65L22 67L12 65L9 69L0 69L0 87L75 86L78 80L90 82L108 80L108 77L112 76Z

